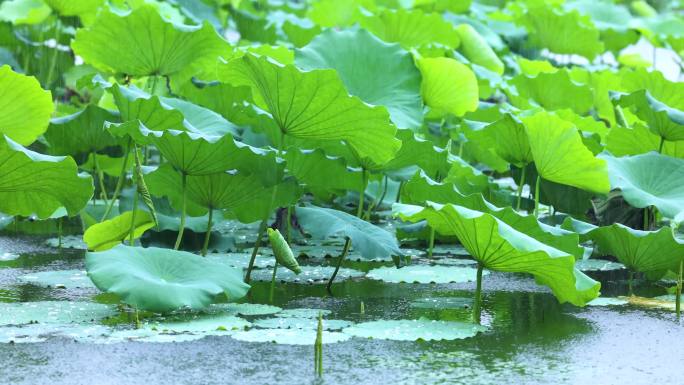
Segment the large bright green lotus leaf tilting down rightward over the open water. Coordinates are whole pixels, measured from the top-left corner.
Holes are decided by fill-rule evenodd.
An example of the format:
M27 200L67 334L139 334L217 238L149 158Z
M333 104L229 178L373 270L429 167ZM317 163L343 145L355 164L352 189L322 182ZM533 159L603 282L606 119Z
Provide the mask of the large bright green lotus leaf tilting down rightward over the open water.
M514 229L494 216L451 204L430 206L400 216L427 220L437 232L455 235L485 268L534 275L558 301L584 306L596 298L601 284L575 269L575 257Z

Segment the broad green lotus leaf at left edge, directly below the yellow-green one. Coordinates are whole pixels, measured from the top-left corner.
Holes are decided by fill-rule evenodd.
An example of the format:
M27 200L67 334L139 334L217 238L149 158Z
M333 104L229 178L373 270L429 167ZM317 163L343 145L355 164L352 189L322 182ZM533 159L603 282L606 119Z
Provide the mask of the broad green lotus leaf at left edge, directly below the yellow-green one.
M47 156L0 138L0 212L48 218L60 207L78 214L93 196L93 180L72 158Z

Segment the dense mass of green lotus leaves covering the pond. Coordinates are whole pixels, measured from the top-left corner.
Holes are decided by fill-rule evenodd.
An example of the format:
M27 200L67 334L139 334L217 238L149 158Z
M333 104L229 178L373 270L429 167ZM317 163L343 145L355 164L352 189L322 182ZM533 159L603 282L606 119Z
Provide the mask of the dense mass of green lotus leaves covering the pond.
M272 336L243 341L478 338L490 272L583 307L601 282L579 267L598 257L629 270L630 290L661 280L679 313L683 12L626 0L0 1L0 228L55 223L61 247L76 227L94 286L136 315L212 309L254 281L271 281L271 300L279 281L334 293L362 275L342 267L351 258L391 262L377 280L472 282L472 324L324 327L315 313L262 321ZM248 257L212 252L236 242ZM335 262L300 266L309 242ZM410 266L440 245L470 263Z

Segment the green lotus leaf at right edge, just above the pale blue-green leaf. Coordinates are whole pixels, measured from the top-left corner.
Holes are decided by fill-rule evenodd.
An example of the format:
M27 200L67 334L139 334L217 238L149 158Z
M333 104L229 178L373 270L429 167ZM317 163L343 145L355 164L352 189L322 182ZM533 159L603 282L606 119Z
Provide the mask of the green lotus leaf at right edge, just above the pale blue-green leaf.
M647 90L612 93L611 96L615 104L631 107L656 135L671 141L684 140L684 111L659 101Z

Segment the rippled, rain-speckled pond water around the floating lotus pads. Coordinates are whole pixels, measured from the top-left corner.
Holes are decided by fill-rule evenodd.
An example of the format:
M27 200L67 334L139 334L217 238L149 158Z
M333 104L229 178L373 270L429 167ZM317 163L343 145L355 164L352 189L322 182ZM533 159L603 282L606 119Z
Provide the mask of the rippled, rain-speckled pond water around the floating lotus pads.
M82 251L57 250L42 246L43 242L36 237L0 237L0 250L19 255L17 259L0 262L0 302L117 302L116 298L100 294L87 285L54 288L22 279L26 274L44 271L83 269ZM424 258L416 260L419 265L434 262ZM334 262L330 258L302 259L304 264L320 265L321 261L324 265ZM368 271L389 264L351 261L344 266ZM624 270L589 274L602 282L602 296L626 294ZM247 300L269 303L269 287L268 282L254 283ZM473 289L473 282L385 283L356 277L334 284L333 295L329 295L322 282L284 282L276 287L273 305L284 309L327 309L330 313L326 319L354 324L421 317L467 321ZM175 342L123 339L118 343L104 343L61 334L40 338L41 342L0 343L0 383L682 383L684 326L671 311L630 305L582 309L560 305L546 289L524 275L491 272L485 275L483 290L486 331L451 341L345 336L344 341L324 344L322 379L314 376L313 341L299 341L307 345L288 345L208 335L192 340L178 336L166 339ZM638 282L635 290L636 294L647 297L665 294L657 283ZM245 316L244 319L256 322L273 317ZM115 315L103 321L106 326L100 326L130 330L129 318L128 314ZM146 321L149 319L143 319ZM92 322L90 326L98 325ZM3 328L9 327L0 326L0 334ZM266 332L266 329L256 330ZM306 336L303 333L296 338Z

